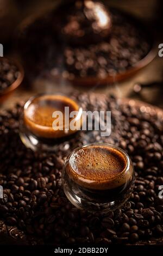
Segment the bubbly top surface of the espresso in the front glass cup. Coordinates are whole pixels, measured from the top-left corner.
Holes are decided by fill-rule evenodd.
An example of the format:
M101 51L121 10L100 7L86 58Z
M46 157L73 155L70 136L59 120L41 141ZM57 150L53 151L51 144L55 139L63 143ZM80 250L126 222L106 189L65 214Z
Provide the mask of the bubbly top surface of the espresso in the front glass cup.
M71 167L74 172L93 181L115 178L125 166L124 156L109 147L83 148L71 157Z

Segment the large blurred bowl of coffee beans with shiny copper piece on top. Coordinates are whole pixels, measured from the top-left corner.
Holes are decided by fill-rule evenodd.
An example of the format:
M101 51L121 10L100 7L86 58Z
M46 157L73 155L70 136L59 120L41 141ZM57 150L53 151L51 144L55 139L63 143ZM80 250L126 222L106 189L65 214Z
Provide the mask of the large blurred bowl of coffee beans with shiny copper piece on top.
M156 56L151 29L101 1L62 3L24 19L16 36L28 78L61 79L74 86L125 80Z

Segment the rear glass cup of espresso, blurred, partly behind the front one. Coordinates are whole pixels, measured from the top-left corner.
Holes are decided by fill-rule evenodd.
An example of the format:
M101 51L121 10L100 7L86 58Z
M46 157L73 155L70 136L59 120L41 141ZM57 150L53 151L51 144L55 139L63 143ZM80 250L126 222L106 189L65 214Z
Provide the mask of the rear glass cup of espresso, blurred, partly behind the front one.
M76 115L70 118L72 112ZM80 130L82 112L78 103L66 95L41 94L31 97L24 105L20 121L22 142L33 150L53 150L61 139ZM70 126L72 120L76 124L73 129Z

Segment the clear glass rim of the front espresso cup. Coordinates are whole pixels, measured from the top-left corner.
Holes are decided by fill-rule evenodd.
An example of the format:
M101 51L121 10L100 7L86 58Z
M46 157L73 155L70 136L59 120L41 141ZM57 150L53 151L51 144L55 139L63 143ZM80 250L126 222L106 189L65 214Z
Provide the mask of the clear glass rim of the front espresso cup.
M73 156L74 153L76 153L78 150L80 149L83 149L83 148L86 148L86 147L91 147L93 145L99 145L99 146L107 146L107 147L110 147L110 148L114 148L118 151L120 151L120 153L125 157L126 159L126 166L124 167L124 169L122 170L121 173L117 174L115 177L113 178L109 178L109 179L105 179L105 181L110 181L110 180L114 180L114 179L117 179L120 175L123 175L124 173L128 172L129 168L130 168L130 163L131 163L131 160L130 160L130 157L129 155L126 153L126 151L124 151L123 149L121 149L120 147L116 146L116 145L112 145L112 144L109 144L109 143L98 143L98 142L95 142L95 143L87 143L87 144L84 144L84 145L81 145L80 147L76 148L76 149L73 149L72 152L70 153L70 155L67 156L66 160L65 160L65 163L64 163L64 168L66 166L66 163L68 162L71 166L71 157ZM71 166L72 168L72 166ZM73 170L73 168L72 168ZM74 172L74 170L73 170Z

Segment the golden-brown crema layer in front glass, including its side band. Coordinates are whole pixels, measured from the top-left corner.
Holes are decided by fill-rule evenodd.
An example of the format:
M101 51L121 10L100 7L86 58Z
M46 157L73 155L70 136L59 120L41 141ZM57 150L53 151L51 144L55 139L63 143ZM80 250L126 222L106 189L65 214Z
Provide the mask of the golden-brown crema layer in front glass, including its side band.
M109 145L91 145L70 157L68 172L77 184L86 188L106 190L126 183L127 158Z

